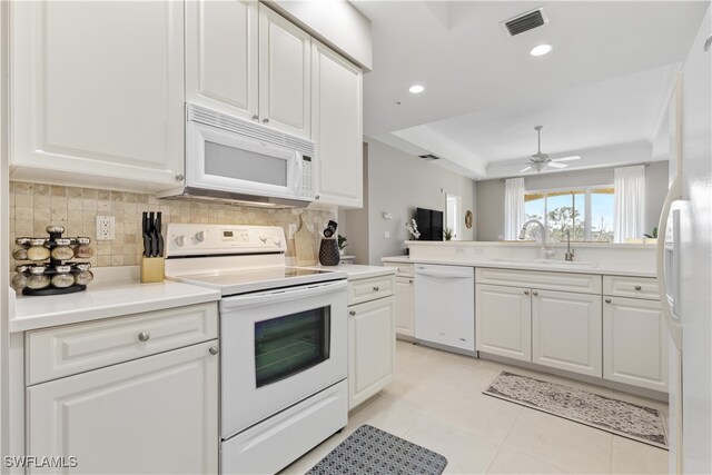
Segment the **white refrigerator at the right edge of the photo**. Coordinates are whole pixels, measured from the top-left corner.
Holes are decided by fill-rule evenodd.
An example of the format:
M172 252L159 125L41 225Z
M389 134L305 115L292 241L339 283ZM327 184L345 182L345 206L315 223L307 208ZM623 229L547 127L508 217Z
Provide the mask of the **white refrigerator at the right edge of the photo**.
M712 474L712 8L671 107L676 174L663 206L657 277L671 335L670 472Z

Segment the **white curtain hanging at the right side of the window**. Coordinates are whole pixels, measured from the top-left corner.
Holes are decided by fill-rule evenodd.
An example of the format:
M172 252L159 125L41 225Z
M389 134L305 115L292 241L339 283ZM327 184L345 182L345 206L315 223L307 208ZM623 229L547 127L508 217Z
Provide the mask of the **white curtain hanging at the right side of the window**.
M613 212L613 241L642 238L645 232L645 166L622 167L613 170L615 208Z

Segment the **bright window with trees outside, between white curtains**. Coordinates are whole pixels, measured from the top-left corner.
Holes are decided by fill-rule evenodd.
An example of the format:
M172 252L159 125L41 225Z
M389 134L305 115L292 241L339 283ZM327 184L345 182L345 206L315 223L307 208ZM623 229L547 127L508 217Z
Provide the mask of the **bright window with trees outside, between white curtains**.
M531 190L524 194L525 219L535 218L546 227L551 240L613 241L613 185L574 189ZM530 226L526 239L541 240L540 228Z

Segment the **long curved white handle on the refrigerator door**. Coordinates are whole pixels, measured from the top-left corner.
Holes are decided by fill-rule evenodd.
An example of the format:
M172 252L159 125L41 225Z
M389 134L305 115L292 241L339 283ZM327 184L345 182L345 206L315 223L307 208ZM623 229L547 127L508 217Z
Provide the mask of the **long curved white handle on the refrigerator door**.
M670 186L668 196L663 204L663 210L660 215L660 222L657 224L657 245L655 248L655 267L657 274L657 291L660 294L660 306L668 323L668 329L672 336L673 342L678 348L682 348L682 324L673 318L672 308L668 300L668 285L665 275L665 236L668 234L668 217L670 216L670 209L673 201L682 199L682 177L675 175L675 178ZM673 258L679 259L680 256Z

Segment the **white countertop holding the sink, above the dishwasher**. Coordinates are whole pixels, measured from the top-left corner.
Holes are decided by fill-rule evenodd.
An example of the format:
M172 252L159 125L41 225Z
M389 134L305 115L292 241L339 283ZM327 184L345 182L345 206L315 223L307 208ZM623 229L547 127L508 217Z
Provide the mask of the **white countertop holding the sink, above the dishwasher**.
M473 266L502 269L546 270L552 273L596 274L609 276L656 277L655 270L650 268L635 268L630 266L597 265L596 267L577 267L561 260L556 264L538 263L507 263L492 258L463 258L463 259L412 259L409 256L393 256L380 259L383 263L404 264L442 264L449 266Z

